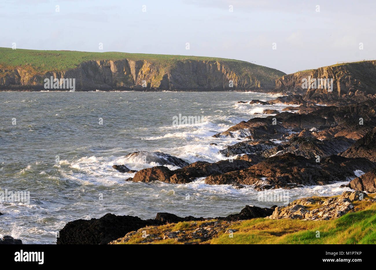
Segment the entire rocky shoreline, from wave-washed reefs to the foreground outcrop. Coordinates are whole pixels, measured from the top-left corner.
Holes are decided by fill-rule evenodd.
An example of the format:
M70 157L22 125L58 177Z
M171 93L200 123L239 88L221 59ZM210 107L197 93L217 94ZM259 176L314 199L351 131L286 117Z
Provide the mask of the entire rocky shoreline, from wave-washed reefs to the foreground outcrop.
M346 187L356 191L345 191L341 196L332 198L303 198L287 206L275 205L272 208L247 205L240 213L227 217L177 217L157 213L155 219L141 220L138 217L106 214L99 219L67 223L60 231L57 243L126 243L136 235L139 237L141 231L147 231L145 228L180 222L191 222L193 227L197 222L200 224L194 232L189 233L171 231L163 235L146 234L139 243L172 238L179 243L207 241L220 232L229 232L231 225L240 220L333 220L356 211L354 203L357 201L368 204L376 202L374 194L365 193L376 191L376 96L347 105L339 105L337 100L327 100L326 106L304 103L301 96L280 97L277 100L286 105L299 106L287 107L291 111L284 110L265 118L243 121L213 136L218 140L225 137L242 140L220 150L229 159L186 165L185 161L165 153L130 153L128 156L146 155L149 161L155 162L162 162L162 157L164 165L181 168L170 170L163 165L146 168L137 171L127 181L186 184L198 177L205 177L206 184L231 184L237 188L252 185L258 191L349 181ZM114 165L114 168L120 172L129 171L121 164ZM357 177L356 172L362 175ZM312 205L315 206L313 209Z

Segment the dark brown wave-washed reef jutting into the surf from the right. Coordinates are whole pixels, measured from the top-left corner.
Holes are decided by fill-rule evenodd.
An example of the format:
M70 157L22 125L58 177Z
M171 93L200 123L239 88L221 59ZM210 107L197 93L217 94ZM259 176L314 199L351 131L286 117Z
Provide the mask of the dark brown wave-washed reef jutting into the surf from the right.
M300 103L300 98L282 97L285 104ZM218 152L229 159L185 165L185 161L168 154L142 153L149 161L181 168L146 168L127 181L186 184L205 177L205 184L254 185L262 191L344 182L357 177L356 171L366 173L376 167L376 96L344 106L301 106L294 107L294 111L255 117L214 135L218 140L241 140ZM158 155L163 156L164 163ZM360 184L349 187L367 191Z

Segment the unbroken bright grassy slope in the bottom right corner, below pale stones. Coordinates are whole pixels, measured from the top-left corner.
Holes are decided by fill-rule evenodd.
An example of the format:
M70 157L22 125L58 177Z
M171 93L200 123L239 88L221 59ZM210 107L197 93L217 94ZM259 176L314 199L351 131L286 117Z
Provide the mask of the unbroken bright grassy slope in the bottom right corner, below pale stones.
M336 220L246 220L232 226L211 244L375 244L376 204ZM317 231L320 237L316 237Z

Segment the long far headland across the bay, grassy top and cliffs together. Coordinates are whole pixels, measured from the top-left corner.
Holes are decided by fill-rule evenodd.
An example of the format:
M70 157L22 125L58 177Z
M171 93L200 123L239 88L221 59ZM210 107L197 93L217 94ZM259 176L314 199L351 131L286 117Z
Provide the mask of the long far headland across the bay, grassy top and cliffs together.
M249 62L197 56L8 48L0 48L0 54L0 89L7 90L47 90L44 79L52 76L74 78L80 91L268 91L284 75Z

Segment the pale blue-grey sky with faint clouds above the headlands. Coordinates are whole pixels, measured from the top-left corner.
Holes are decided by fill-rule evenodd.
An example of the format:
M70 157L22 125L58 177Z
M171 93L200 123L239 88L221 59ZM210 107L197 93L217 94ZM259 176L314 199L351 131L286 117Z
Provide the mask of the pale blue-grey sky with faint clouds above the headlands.
M376 59L375 10L375 0L1 0L0 47L221 57L289 74Z

